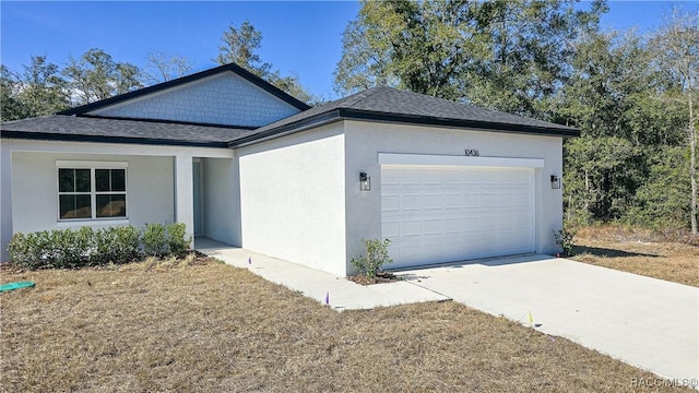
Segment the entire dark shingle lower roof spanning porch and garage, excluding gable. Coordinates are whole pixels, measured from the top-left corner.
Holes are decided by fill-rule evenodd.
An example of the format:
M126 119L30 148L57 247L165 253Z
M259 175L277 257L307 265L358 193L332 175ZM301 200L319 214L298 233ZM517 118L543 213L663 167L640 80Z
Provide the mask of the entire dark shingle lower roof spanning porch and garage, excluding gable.
M478 129L555 136L578 130L391 87L372 87L254 130L144 119L52 115L8 121L2 138L235 147L340 120Z

